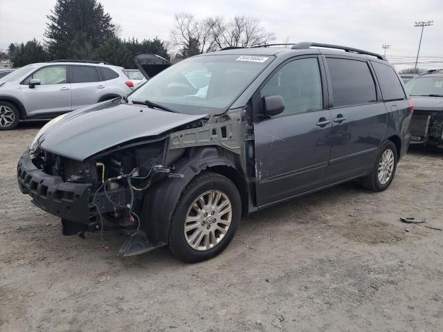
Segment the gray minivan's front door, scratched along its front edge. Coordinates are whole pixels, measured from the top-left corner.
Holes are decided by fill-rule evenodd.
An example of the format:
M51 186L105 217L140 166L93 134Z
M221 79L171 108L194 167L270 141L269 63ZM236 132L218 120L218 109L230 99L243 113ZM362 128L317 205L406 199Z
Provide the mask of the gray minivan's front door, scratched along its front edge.
M280 66L257 92L260 98L281 95L285 105L278 116L254 125L259 207L324 184L332 122L322 77L318 57L298 58Z

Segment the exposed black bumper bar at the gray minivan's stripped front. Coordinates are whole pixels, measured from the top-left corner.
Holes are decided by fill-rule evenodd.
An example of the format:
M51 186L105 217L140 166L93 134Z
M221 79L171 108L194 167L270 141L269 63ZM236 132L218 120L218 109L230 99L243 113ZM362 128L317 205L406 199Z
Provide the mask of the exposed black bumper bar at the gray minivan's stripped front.
M32 197L38 208L69 221L89 223L91 184L64 182L38 169L25 151L17 165L17 181L22 193Z

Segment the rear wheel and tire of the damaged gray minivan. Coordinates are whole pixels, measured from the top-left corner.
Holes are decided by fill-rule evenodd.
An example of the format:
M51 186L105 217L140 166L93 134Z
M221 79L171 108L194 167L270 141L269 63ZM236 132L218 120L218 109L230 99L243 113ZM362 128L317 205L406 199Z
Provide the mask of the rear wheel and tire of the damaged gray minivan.
M361 185L374 192L386 190L394 179L397 160L397 147L392 141L386 141L375 160L372 172L361 178Z

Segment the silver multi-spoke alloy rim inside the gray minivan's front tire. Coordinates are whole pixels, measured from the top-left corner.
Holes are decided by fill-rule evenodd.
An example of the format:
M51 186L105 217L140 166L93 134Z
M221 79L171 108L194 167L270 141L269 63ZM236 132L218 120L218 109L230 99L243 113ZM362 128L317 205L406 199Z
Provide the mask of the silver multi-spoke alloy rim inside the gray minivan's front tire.
M201 194L186 214L186 242L195 250L214 248L228 232L232 216L233 208L224 192L210 190Z

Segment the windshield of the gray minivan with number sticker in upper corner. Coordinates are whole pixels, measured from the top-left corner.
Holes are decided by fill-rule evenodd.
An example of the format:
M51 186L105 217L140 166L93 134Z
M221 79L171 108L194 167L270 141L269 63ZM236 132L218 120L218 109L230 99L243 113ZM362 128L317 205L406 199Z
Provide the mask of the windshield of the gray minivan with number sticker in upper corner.
M191 57L152 77L129 100L149 100L180 113L221 113L272 60L262 55Z

